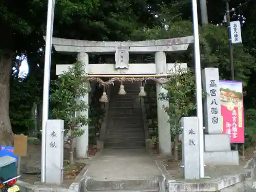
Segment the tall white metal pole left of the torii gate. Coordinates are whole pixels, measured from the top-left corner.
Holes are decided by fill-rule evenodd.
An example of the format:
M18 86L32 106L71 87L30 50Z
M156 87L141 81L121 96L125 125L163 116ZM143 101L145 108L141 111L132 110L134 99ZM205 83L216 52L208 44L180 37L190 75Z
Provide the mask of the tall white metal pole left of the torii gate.
M42 96L42 150L41 150L41 182L45 183L46 175L46 121L49 115L49 90L52 55L52 32L54 20L55 0L48 0L47 28L46 28L46 52L44 71L44 91Z

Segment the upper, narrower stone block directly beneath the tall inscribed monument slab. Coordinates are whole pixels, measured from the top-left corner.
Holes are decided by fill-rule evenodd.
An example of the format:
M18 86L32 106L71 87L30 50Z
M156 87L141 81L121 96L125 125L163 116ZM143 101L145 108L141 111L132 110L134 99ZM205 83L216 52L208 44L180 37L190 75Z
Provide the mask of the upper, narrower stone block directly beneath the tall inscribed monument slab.
M228 134L204 135L206 152L230 151L230 136Z

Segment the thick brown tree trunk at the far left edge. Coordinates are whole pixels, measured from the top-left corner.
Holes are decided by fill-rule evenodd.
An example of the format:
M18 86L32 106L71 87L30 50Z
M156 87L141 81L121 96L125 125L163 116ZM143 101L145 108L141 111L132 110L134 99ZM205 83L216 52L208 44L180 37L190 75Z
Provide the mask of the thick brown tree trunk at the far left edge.
M13 52L0 50L0 145L12 146L14 134L9 117Z

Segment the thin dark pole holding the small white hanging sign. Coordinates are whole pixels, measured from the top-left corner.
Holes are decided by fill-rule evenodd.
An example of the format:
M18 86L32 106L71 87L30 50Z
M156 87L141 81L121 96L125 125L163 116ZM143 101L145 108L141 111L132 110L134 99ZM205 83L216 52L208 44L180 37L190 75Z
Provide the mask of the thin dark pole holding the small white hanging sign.
M229 62L230 62L230 67L231 67L231 78L232 78L232 80L234 80L234 60L233 60L233 50L232 50L232 42L231 42L229 0L226 0L226 12L227 12L227 33L228 33ZM237 143L236 143L236 151L238 151L238 144Z

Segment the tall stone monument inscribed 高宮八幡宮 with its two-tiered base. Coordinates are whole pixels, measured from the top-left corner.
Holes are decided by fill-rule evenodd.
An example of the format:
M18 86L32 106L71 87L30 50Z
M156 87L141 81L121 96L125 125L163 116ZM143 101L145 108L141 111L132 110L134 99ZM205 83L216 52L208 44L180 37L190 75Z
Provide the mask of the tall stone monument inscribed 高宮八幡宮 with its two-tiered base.
M222 134L219 69L202 71L204 106L205 153L204 163L212 165L238 165L238 151L230 150L230 136Z

